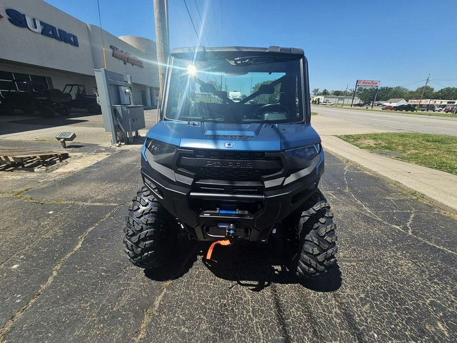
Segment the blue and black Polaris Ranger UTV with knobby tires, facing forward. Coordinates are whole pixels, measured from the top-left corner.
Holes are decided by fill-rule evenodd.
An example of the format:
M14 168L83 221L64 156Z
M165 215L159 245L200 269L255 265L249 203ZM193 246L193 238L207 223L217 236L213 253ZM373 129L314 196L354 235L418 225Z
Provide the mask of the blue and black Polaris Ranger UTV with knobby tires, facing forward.
M324 153L302 49L174 49L158 111L124 229L133 264L162 266L180 231L212 241L208 259L214 244L267 242L280 231L293 273L331 270L336 225L318 189Z

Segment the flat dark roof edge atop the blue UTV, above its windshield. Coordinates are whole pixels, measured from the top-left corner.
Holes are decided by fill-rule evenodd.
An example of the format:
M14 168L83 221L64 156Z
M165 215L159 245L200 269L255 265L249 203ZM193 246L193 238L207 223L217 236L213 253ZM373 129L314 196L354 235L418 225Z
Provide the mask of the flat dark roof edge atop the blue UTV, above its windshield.
M268 48L259 48L259 47L246 47L246 46L225 46L225 47L205 47L205 46L195 46L195 47L185 47L185 48L175 48L171 51L171 55L178 58L194 57L196 54L205 54L208 52L221 52L221 53L232 53L232 52L255 52L262 54L292 54L292 55L304 55L303 49L300 48L285 48L279 46L270 46Z

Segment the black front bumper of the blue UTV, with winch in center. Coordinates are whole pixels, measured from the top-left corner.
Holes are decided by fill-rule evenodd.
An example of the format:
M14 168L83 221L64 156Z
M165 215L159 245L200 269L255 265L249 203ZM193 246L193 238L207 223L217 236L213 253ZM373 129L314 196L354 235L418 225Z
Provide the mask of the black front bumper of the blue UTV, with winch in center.
M306 169L262 182L193 179L158 164L147 149L141 160L144 184L198 240L224 238L226 224L236 225L234 239L265 240L316 191L322 173L323 152Z

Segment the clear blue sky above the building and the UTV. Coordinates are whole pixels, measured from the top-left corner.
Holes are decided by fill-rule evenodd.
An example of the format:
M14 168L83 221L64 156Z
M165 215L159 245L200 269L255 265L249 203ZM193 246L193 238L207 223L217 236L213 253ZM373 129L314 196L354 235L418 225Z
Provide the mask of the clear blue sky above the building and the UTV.
M46 2L99 25L96 0ZM108 32L155 41L152 0L99 2ZM357 79L416 89L429 73L431 87L457 87L455 0L169 0L171 48L199 43L185 3L198 31L204 19L203 45L304 49L311 89Z

